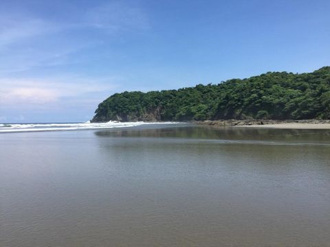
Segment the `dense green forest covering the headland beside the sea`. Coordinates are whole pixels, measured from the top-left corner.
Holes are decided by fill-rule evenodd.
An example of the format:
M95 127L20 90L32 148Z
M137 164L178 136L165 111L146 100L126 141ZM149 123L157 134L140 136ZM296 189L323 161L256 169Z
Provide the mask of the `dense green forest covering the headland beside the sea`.
M115 93L95 113L92 121L330 119L330 67L178 90Z

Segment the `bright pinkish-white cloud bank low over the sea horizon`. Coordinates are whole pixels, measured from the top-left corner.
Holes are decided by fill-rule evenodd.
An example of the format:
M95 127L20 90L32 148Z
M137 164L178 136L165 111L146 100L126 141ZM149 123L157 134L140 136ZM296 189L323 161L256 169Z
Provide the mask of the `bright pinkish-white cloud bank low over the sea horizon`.
M47 108L63 102L89 102L88 94L111 93L119 78L90 80L78 76L56 79L7 78L0 79L0 108ZM89 95L89 97L91 97ZM87 100L87 101L86 101ZM100 99L98 99L100 100ZM95 107L95 106L93 106Z

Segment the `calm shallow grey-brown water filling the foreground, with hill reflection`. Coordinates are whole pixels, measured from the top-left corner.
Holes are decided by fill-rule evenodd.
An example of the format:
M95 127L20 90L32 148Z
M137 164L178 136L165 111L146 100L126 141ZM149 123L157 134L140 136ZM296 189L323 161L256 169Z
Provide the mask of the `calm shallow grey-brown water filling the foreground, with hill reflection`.
M0 134L0 246L330 246L330 131Z

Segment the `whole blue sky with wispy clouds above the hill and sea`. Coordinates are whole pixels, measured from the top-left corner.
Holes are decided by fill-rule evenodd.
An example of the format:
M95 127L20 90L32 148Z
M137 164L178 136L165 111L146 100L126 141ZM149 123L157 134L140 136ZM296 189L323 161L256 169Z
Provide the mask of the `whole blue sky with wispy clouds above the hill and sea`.
M0 0L0 123L88 121L113 93L330 65L329 0Z

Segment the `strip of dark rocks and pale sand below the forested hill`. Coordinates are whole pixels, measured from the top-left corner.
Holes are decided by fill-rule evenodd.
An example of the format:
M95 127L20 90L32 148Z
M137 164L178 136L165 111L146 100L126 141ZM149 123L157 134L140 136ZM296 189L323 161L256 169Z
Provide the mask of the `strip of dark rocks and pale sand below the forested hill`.
M281 129L330 129L330 120L212 120L194 121L195 124L221 128L225 126L248 128L281 128Z

